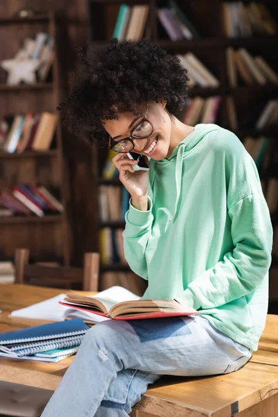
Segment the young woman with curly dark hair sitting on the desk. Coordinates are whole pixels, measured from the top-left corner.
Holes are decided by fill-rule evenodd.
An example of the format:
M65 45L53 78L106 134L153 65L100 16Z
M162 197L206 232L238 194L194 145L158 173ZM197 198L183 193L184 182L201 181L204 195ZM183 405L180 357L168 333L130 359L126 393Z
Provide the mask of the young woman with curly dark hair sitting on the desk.
M43 417L124 417L161 375L231 373L257 350L268 309L272 226L256 165L216 124L187 126L179 59L147 40L91 46L62 115L115 150L131 194L124 252L143 299L199 316L107 320L90 330ZM149 161L148 171L126 152Z

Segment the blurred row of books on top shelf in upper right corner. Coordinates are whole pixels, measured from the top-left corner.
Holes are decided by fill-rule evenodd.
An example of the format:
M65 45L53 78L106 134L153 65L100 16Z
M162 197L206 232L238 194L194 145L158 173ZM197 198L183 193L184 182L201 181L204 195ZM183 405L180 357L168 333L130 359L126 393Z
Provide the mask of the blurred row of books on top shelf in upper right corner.
M267 6L251 1L230 1L222 3L224 34L228 38L240 38L253 35L275 35L277 23Z

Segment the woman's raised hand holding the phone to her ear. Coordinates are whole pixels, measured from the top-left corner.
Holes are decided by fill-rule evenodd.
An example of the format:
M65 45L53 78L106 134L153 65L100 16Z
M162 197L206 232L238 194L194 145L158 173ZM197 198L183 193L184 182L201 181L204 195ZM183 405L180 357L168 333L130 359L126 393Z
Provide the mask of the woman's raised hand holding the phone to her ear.
M124 153L117 153L112 161L120 171L120 181L126 190L128 190L132 199L136 201L145 197L147 199L149 171L134 171L133 165L137 165L138 162L129 159ZM147 163L149 163L149 161Z

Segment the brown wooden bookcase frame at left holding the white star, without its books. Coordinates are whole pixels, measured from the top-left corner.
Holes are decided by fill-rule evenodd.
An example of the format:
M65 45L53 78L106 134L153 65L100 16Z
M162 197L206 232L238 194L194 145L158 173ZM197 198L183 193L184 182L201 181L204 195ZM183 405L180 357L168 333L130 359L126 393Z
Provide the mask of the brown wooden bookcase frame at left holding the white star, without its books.
M0 118L15 113L56 112L64 99L63 78L59 53L60 25L53 13L19 17L0 17L0 60L11 59L28 36L35 38L40 31L54 38L55 58L45 83L35 85L7 85L1 72ZM5 40L5 41L4 41ZM46 152L26 151L22 154L0 153L0 189L17 183L40 183L59 190L60 202L65 210L60 215L17 216L0 218L0 260L13 260L15 249L30 250L31 261L56 261L69 265L71 233L68 221L69 186L63 156L62 127L58 122L51 148Z

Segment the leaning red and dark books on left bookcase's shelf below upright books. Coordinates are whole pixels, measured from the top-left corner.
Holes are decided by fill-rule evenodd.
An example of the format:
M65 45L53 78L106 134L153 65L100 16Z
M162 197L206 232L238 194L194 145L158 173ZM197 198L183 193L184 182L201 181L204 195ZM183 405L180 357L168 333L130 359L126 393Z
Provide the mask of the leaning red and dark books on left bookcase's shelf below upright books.
M44 186L18 184L12 190L0 191L0 216L44 215L63 213L55 191Z

